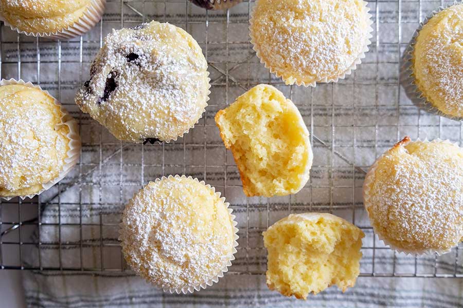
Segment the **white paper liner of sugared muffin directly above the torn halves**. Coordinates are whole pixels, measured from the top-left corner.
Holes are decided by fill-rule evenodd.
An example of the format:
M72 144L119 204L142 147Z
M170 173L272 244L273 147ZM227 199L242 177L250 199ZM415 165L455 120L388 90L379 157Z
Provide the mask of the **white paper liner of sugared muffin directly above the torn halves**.
M371 44L371 37L373 37L373 28L371 27L371 25L373 24L373 21L371 20L371 14L369 13L370 12L370 8L368 7L368 3L367 2L364 2L365 3L365 7L364 7L364 10L365 10L365 14L367 15L368 17L368 34L367 34L367 38L366 38L366 41L365 41L365 46L363 48L363 50L360 52L359 56L357 57L357 59L354 60L354 62L352 63L352 65L347 68L341 75L339 76L336 76L336 78L327 78L327 77L324 77L324 78L320 78L318 80L315 80L313 81L312 83L306 83L304 81L298 81L296 80L294 82L294 84L298 85L298 86L305 86L305 87L316 87L317 83L329 83L329 82L338 82L340 79L345 79L346 78L346 75L350 75L352 73L352 71L354 71L355 69L357 69L357 65L361 64L362 63L362 59L365 57L365 53L368 52L369 48L368 46ZM256 55L257 57L259 58L260 60L260 63L262 63L266 69L269 69L270 72L272 74L274 74L277 78L281 78L283 80L283 82L286 83L286 78L283 77L283 74L280 74L278 73L270 63L268 62L265 62L263 59L262 59L262 56L260 54L260 51L259 49L257 48L257 45L256 45L256 40L253 36L253 31L251 30L252 28L252 22L253 22L253 15L254 15L254 12L256 11L256 7L253 9L252 13L251 13L251 16L250 16L250 21L249 21L249 35L251 37L251 44L253 45L253 49L254 51L256 52ZM288 83L287 83L288 84Z

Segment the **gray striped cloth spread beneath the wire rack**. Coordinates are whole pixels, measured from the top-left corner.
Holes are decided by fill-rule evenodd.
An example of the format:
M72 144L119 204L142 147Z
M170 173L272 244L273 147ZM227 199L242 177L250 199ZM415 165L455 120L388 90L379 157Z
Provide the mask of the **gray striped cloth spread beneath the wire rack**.
M440 257L418 258L385 249L372 234L362 205L364 172L398 138L408 134L412 139L450 139L462 145L460 123L420 111L398 86L401 54L420 17L439 3L421 3L422 14L417 2L398 4L368 4L373 28L380 31L378 44L371 45L352 76L315 89L284 86L259 63L246 43L247 2L228 15L209 12L207 26L205 11L187 5L186 16L184 3L128 2L121 6L109 2L102 25L83 37L82 47L79 38L61 44L40 40L37 49L34 40L21 36L21 43L16 44L16 34L3 27L2 78L39 82L79 120L83 141L81 164L60 185L40 196L45 204L42 225L32 238L40 240L40 247L29 245L23 252L26 265L76 270L24 271L28 306L463 307L463 279L367 277L373 272L379 276L463 274L461 247ZM74 95L88 79L100 36L112 28L153 19L185 28L207 50L211 100L204 117L184 139L165 145L121 144L78 110ZM233 157L214 125L217 110L262 82L280 83L277 87L292 98L312 133L311 180L293 196L245 198ZM191 175L216 186L234 208L240 228L240 249L230 272L206 290L189 295L165 294L135 276L124 264L117 241L123 205L148 181L169 174ZM261 232L289 213L304 211L329 211L362 227L366 234L361 261L365 277L344 294L330 287L301 301L271 292L265 285Z

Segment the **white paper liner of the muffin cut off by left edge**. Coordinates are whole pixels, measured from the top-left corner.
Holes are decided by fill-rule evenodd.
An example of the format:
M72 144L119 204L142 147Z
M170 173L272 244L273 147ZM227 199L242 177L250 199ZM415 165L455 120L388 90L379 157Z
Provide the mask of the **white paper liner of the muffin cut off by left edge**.
M27 87L39 89L43 92L45 92L47 95L49 95L51 98L53 96L48 92L43 90L40 86L34 85L31 82L25 82L22 79L20 80L15 80L15 79L2 79L0 80L0 86L6 86L6 85L25 85ZM80 141L80 134L79 134L79 125L77 124L77 121L74 120L74 118L67 112L67 110L64 108L63 105L58 102L57 99L53 98L55 100L55 105L60 107L60 111L63 113L63 117L61 117L62 123L59 125L66 125L69 127L69 133L66 135L66 137L69 139L69 150L67 151L67 158L64 160L66 163L64 165L63 170L59 173L58 177L42 184L43 188L40 189L38 192L35 192L34 194L30 195L25 195L25 196L14 196L14 197L3 197L0 196L1 199L5 200L11 200L12 198L15 197L20 197L22 200L24 200L26 197L27 198L33 198L34 196L38 196L42 194L45 190L49 189L51 186L55 185L59 181L61 181L68 173L69 171L77 164L80 158L80 149L81 149L81 141Z

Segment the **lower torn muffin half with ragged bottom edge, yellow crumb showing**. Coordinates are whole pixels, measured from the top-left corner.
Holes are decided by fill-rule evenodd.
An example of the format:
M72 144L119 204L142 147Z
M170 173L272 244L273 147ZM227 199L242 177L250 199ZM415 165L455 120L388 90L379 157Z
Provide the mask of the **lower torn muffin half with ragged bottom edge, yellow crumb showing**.
M264 233L270 290L307 299L331 285L343 292L360 274L362 230L327 213L293 214Z

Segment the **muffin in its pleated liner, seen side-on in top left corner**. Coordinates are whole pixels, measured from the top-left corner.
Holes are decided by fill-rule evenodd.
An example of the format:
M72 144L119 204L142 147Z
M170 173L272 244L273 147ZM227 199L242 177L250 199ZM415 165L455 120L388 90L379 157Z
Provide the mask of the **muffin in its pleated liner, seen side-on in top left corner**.
M0 0L0 15L18 32L69 38L99 22L105 0Z

